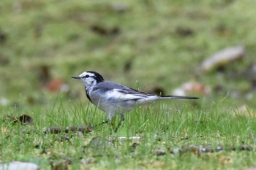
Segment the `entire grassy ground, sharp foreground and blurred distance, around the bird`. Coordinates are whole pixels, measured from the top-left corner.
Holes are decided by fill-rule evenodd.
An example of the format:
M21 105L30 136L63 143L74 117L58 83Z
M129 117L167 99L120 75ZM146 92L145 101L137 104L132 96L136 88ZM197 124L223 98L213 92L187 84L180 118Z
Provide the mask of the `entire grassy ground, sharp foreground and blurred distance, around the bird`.
M59 169L256 166L255 93L246 79L256 53L255 5L253 0L0 1L0 161L31 161L42 169L50 164ZM246 47L243 60L200 71L208 55L236 45ZM70 78L88 70L133 88L138 81L140 90L170 94L197 81L212 92L189 94L200 96L197 101L138 108L127 113L117 134L115 125L103 125L83 134L44 135L53 126L105 120L86 100L80 82ZM54 80L69 90L50 91ZM23 114L34 124L12 123ZM112 139L116 136L140 139ZM214 152L203 152L200 145L211 145Z

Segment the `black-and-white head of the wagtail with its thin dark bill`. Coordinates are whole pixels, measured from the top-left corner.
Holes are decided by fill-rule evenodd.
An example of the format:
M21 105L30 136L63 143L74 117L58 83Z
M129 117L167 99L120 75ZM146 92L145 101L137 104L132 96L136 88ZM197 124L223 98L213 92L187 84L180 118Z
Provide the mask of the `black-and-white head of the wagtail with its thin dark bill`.
M102 75L97 72L83 72L79 76L72 76L73 79L79 79L83 82L86 87L90 87L91 85L96 85L99 82L103 82L104 79Z

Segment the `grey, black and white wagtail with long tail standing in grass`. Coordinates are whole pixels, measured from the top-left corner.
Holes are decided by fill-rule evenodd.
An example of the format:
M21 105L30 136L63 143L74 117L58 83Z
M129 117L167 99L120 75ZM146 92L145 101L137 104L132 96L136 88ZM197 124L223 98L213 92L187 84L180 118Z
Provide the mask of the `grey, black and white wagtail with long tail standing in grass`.
M92 104L107 113L107 122L118 113L121 115L121 121L124 121L124 112L160 99L197 99L197 97L160 96L145 93L116 82L105 81L102 75L97 72L83 72L79 76L73 76L72 78L79 79L83 82L86 88L87 98L89 98Z

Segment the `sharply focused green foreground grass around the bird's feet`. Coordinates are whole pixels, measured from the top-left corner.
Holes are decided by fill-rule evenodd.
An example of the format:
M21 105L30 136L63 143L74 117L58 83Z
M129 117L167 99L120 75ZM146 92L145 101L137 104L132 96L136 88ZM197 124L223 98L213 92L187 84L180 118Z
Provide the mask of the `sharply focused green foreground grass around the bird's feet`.
M105 124L83 134L46 134L45 127L91 125L105 120L105 114L83 104L56 104L54 111L31 110L34 125L1 123L1 161L38 163L42 169L64 166L69 169L243 169L255 166L255 118L234 115L221 104L210 109L170 110L166 104L137 108L127 113L124 125ZM191 111L192 109L192 111ZM1 117L8 109L1 108ZM12 111L18 114L17 110ZM52 115L54 112L54 115ZM120 117L114 117L118 122ZM139 136L138 140L116 139ZM231 150L241 144L249 150ZM199 152L191 146L208 145L214 152ZM190 148L191 147L191 148ZM225 150L215 151L217 147ZM194 148L194 149L193 149ZM170 153L171 150L181 152ZM159 152L164 152L160 155Z

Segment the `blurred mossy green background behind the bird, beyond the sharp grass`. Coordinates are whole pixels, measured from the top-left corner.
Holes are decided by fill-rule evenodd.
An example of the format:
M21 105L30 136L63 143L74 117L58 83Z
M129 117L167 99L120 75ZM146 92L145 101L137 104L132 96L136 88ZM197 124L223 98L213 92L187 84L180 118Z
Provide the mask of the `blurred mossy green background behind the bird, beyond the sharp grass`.
M198 82L211 93L187 95L200 96L201 104L256 107L249 70L256 53L255 7L255 0L1 0L1 104L52 106L59 93L88 102L81 83L70 77L91 70L165 94ZM201 70L211 54L238 45L246 48L242 60Z

